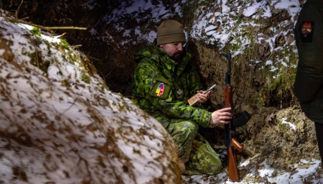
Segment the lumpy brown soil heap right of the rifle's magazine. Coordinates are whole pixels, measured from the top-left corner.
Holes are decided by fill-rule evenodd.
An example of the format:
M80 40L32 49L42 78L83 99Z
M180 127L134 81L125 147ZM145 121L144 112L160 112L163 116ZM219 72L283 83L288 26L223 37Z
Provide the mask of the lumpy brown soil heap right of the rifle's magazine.
M252 117L246 125L236 129L235 136L249 155L259 154L263 160L267 159L268 165L278 170L289 170L290 165L300 159L319 159L314 123L298 108L246 110ZM212 134L215 135L213 140L210 140L210 134L207 135L210 143L214 147L223 147L223 127L216 127ZM238 158L239 155L247 156L237 154Z

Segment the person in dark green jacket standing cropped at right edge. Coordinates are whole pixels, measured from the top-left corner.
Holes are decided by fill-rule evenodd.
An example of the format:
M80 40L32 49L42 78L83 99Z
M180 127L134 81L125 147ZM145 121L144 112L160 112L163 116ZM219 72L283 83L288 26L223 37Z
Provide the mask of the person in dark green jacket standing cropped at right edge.
M297 65L294 94L306 116L314 121L323 160L323 0L309 0L295 26Z

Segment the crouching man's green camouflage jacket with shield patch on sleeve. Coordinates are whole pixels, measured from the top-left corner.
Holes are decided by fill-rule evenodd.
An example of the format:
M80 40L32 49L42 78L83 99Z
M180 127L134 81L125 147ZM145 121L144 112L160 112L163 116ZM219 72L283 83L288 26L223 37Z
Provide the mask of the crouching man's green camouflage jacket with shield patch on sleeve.
M202 89L191 55L184 52L180 62L169 58L155 43L138 52L132 82L133 102L167 127L171 119L186 119L207 127L211 112L188 105L187 100Z

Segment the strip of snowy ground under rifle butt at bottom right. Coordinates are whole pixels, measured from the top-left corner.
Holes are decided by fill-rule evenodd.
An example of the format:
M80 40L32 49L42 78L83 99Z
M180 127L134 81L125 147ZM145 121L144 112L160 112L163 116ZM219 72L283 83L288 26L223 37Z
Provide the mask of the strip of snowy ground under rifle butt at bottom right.
M241 161L239 170L247 167L247 174L241 178L240 182L233 182L228 179L227 172L221 172L216 176L183 176L184 181L187 183L219 183L219 184L233 184L233 183L242 183L242 184L256 184L256 183L281 183L281 184L290 184L290 183L322 183L323 175L316 176L315 173L322 169L321 161L312 159L301 160L299 163L293 165L291 171L280 170L277 171L272 167L266 164L266 160L260 164L258 162L258 155L255 155L252 158L248 158ZM268 181L268 182L267 182Z

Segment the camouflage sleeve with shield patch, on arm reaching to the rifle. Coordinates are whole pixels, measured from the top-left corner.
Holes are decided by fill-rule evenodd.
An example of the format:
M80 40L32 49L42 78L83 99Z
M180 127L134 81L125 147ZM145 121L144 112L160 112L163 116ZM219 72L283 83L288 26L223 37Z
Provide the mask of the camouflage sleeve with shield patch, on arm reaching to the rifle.
M189 106L184 101L173 100L172 84L160 77L156 69L151 65L139 63L134 76L133 94L145 98L166 116L191 120L200 126L207 127L211 119L211 112Z

